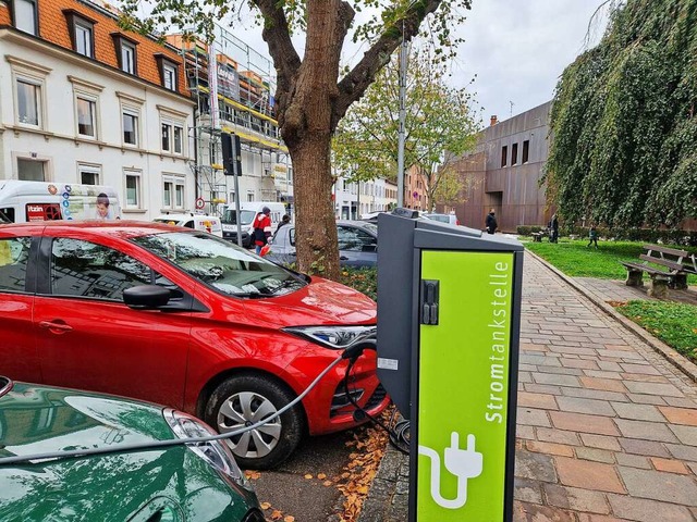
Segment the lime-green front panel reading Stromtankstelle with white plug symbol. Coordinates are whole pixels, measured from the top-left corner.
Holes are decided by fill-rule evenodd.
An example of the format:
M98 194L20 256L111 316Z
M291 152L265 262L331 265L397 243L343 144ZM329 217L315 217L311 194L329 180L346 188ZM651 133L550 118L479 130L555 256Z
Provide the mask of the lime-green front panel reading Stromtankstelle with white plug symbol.
M512 253L421 254L440 299L438 324L419 327L418 520L503 520L513 266Z

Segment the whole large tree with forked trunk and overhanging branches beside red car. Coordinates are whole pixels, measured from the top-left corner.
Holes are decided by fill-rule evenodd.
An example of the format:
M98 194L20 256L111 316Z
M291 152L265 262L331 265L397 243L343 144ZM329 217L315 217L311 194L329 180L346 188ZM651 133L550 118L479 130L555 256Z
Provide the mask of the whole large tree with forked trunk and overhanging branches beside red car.
M140 21L143 2L152 11ZM294 171L297 262L302 271L338 278L339 251L331 201L331 138L348 108L360 99L403 40L424 25L439 54L460 42L451 28L464 20L470 0L124 0L124 23L143 32L172 25L212 34L213 21L235 20L250 7L262 25L277 73L277 115ZM365 11L365 23L355 23ZM301 54L293 32L304 34ZM340 59L346 38L365 53L345 74Z

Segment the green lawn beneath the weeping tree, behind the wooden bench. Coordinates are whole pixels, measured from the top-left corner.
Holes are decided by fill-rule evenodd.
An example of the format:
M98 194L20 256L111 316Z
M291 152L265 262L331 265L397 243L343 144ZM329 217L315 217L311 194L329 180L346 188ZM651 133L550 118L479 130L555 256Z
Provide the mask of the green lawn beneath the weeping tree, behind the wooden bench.
M561 238L558 244L533 243L525 248L537 253L549 263L572 277L598 277L602 279L624 279L626 270L620 261L639 261L644 243L598 241L598 249L587 248L588 239L570 240ZM673 247L685 249L685 247ZM694 249L687 249L695 252ZM697 285L697 276L690 275L687 284Z

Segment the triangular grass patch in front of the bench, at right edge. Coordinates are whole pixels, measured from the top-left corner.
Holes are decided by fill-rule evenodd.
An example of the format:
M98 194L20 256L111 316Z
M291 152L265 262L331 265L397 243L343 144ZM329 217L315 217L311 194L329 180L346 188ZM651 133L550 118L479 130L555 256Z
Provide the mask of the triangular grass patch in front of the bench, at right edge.
M697 361L697 307L670 301L629 301L616 307L651 335Z

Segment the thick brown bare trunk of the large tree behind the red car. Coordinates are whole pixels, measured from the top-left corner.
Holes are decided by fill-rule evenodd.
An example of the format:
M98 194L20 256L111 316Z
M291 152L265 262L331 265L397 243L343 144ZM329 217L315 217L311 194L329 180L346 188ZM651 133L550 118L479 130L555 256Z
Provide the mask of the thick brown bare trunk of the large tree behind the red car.
M307 9L313 23L307 27L305 58L279 123L293 161L298 269L337 281L339 247L330 151L339 57L353 10L340 0L308 2Z

